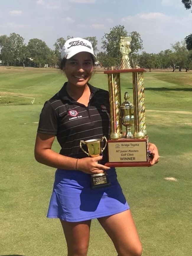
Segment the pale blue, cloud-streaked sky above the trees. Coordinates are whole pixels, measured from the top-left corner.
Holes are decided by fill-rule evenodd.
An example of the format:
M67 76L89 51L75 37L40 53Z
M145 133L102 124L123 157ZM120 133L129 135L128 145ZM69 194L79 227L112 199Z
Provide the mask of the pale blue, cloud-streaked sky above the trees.
M39 38L53 49L59 37L96 36L115 25L137 31L144 51L159 52L192 33L192 13L181 0L0 0L0 35Z

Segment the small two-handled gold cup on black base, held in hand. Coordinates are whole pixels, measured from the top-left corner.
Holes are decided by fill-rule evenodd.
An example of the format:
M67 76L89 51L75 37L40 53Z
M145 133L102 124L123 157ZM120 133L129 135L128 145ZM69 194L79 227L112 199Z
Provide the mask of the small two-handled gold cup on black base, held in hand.
M105 140L104 148L101 148L100 142ZM82 148L82 144L87 146L88 152ZM93 139L93 140L81 140L80 148L81 150L90 157L96 157L102 154L103 150L106 148L107 139L105 136L102 139ZM108 176L106 172L99 174L91 174L91 188L95 189L98 187L107 187L110 183L108 181Z

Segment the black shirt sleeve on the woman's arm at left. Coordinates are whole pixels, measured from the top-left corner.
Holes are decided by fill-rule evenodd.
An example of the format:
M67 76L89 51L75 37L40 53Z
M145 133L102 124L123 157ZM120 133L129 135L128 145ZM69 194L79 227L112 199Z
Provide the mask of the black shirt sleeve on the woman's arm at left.
M50 101L46 101L39 118L37 131L46 134L57 134L58 114L51 106Z

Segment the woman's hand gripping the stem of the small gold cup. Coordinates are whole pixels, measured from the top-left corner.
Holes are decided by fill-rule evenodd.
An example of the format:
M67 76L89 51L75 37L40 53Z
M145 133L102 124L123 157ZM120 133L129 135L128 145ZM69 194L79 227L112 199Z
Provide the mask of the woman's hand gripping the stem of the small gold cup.
M105 165L98 163L102 160L102 156L85 157L78 159L77 170L88 174L103 173L103 171L110 169Z

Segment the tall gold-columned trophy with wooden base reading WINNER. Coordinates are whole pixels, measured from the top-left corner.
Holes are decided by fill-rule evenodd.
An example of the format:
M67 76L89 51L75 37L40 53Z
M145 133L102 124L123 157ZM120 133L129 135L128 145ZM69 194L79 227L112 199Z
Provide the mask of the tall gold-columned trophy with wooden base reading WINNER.
M110 100L110 140L108 140L109 167L120 166L151 166L148 161L148 136L145 125L144 81L145 69L132 69L128 53L131 37L121 37L120 51L122 60L120 69L104 71L108 74ZM121 104L120 73L132 73L133 77L133 104L129 101L127 92L125 101ZM122 131L126 127L126 135ZM134 133L131 134L131 127Z

